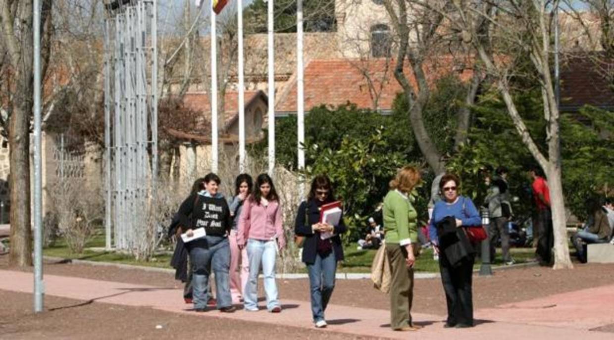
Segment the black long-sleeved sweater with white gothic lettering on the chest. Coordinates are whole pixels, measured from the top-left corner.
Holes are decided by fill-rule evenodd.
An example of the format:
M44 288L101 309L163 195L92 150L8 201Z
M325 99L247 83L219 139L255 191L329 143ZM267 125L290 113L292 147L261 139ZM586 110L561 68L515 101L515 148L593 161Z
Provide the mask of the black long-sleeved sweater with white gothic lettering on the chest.
M204 227L207 236L226 236L232 226L230 209L223 196L190 195L179 207L179 219L182 226L192 229ZM196 239L188 245L206 247L206 241L204 238Z

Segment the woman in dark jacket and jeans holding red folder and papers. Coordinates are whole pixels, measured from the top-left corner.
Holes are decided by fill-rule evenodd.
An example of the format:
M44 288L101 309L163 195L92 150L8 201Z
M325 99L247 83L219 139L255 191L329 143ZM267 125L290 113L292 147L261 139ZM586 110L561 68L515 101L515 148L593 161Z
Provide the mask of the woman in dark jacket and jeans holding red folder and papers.
M311 312L317 328L324 328L324 311L335 288L337 261L343 260L340 234L346 232L341 216L338 225L320 223L320 207L335 201L333 187L325 175L318 175L311 181L307 201L298 207L294 233L305 237L302 260L309 272ZM331 238L322 239L321 233L333 233Z

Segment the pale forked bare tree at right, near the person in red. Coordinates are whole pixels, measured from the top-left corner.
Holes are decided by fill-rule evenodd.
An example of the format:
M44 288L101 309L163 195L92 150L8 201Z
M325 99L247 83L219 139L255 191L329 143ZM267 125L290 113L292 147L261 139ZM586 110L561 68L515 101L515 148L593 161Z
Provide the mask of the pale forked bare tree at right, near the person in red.
M422 4L446 15L426 2ZM554 223L554 268L572 268L561 181L560 114L551 65L554 53L551 44L552 11L558 6L558 0L454 1L456 11L448 18L462 41L475 48L489 76L494 79L524 145L546 174ZM521 64L526 58L530 60L530 70L523 73ZM536 77L542 90L547 149L544 151L518 113L514 97L513 79L532 76Z

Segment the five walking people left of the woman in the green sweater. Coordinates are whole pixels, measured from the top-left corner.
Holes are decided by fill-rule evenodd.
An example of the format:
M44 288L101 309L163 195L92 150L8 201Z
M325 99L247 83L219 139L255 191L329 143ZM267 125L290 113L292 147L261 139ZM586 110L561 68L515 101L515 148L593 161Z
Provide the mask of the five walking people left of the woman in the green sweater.
M268 174L260 174L254 184L251 176L240 174L235 196L228 200L219 192L219 185L220 178L213 173L196 180L171 223L169 233L177 236L191 238L199 228L205 232L204 237L188 242L177 238L171 264L177 268L177 279L186 282L185 301L193 303L196 312L206 311L211 301L220 312L235 312L235 305L240 303L245 311L258 311L257 279L262 268L266 309L279 313L282 308L275 266L286 238L273 180ZM343 260L343 218L336 225L320 220L322 205L333 201L330 179L314 177L308 199L298 207L294 230L303 239L302 260L309 272L313 322L319 328L327 325L324 311L335 287L337 262ZM332 237L323 238L322 233ZM215 277L214 300L211 274Z

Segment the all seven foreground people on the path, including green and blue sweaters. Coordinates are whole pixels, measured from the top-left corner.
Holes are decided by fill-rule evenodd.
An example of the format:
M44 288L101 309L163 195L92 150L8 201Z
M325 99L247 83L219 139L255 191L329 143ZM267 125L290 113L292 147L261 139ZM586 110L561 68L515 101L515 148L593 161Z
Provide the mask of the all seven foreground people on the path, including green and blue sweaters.
M418 213L410 193L421 182L418 169L405 166L391 180L383 202L385 251L391 269L391 327L413 331L420 327L411 318L414 263L419 251ZM286 245L282 209L273 180L260 174L241 174L236 178L235 195L225 199L219 192L220 178L208 174L195 182L192 193L179 207L173 231L192 236L204 228L206 236L189 242L178 238L178 254L189 255L184 280L192 287L196 312L206 311L211 299L211 274L215 277L216 307L234 312L243 303L245 311L258 311L257 278L262 268L266 309L282 311L275 280L279 249ZM470 198L459 195L461 182L454 174L440 177L441 201L434 204L429 222L429 237L440 254L441 280L448 305L446 327L473 326L472 268L475 250L468 245L464 255L449 252L451 235L462 238L456 230L481 226L478 210ZM346 232L343 218L336 225L323 223L321 207L335 201L331 180L314 177L308 198L298 206L294 233L301 240L301 260L309 273L311 312L316 327L327 326L325 310L335 288L338 261L343 260L341 234ZM175 231L176 230L176 231ZM324 234L332 237L324 237ZM460 236L459 236L460 235ZM465 240L466 243L466 240ZM183 247L183 249L181 249ZM181 261L176 261L181 263ZM187 268L187 265L176 268ZM184 270L185 272L185 270ZM187 289L189 290L189 288ZM186 292L185 297L189 292Z

